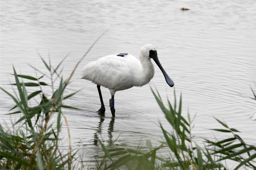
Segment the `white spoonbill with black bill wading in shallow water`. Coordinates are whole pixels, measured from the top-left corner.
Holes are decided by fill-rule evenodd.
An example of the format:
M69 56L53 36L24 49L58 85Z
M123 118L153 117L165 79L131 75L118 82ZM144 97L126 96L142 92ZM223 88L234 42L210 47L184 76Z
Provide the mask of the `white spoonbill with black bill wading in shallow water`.
M133 86L141 87L153 78L155 69L150 59L156 62L164 74L165 81L172 87L174 83L164 68L160 64L156 47L151 44L146 44L140 49L139 58L131 54L120 53L111 54L101 57L96 61L89 62L82 70L81 77L78 79L90 80L97 84L97 89L100 96L101 107L98 112L105 113L100 86L109 89L111 99L109 99L109 107L112 117L115 117L114 95L116 91L130 89Z

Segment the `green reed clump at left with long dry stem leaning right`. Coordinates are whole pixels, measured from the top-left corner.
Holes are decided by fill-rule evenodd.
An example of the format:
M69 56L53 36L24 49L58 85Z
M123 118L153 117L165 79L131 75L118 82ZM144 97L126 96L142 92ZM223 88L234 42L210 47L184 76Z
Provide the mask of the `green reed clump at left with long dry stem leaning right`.
M105 32L103 32L104 34ZM103 35L102 34L102 35ZM101 36L102 36L101 35ZM100 37L101 37L100 36ZM12 122L12 126L4 129L0 124L0 169L76 169L74 157L76 152L71 149L71 140L68 128L68 121L62 112L62 108L77 109L72 106L63 105L63 101L75 95L77 92L64 96L64 91L68 86L78 64L84 59L87 53L92 49L96 42L87 50L84 56L77 62L67 80L63 80L60 69L62 62L57 67L53 67L50 62L47 63L39 54L48 74L44 74L40 70L32 67L37 73L42 74L40 77L32 77L28 75L17 74L13 67L15 83L12 86L17 88L14 95L1 88L15 102L8 114L20 114L21 117L16 122ZM41 81L48 78L51 85ZM24 82L29 80L29 82ZM54 85L58 83L57 88ZM28 94L30 87L38 87L36 91ZM49 90L45 87L51 87ZM45 91L50 95L46 95ZM40 96L40 97L39 97ZM40 98L40 102L32 102L31 99ZM50 123L51 118L55 115L57 122ZM60 131L62 121L68 129L69 149L63 151L60 148Z

